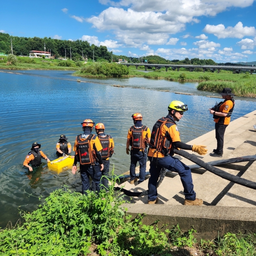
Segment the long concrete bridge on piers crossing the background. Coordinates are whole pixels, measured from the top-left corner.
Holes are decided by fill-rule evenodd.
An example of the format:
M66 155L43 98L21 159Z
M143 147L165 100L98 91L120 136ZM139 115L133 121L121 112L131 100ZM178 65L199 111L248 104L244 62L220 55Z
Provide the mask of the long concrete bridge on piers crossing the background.
M139 66L145 66L145 71L149 67L155 67L156 70L159 70L162 67L166 68L166 71L168 70L169 67L172 68L172 70L180 71L181 67L184 68L189 68L190 72L193 72L195 68L202 68L203 72L205 72L206 69L210 69L213 72L215 70L218 70L218 73L220 73L220 70L233 70L233 73L240 73L242 70L250 71L250 74L253 74L253 71L256 71L256 67L248 67L248 66L213 66L213 65L187 65L187 64L135 64L135 63L121 63L121 65L126 65L127 67L129 66L135 66L136 69L138 69Z

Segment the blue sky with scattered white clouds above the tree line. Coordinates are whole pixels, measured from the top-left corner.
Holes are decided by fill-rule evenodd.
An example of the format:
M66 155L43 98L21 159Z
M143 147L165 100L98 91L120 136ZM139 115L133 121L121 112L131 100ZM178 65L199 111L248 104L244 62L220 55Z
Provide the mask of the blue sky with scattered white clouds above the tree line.
M256 61L256 0L14 0L0 11L0 32L16 36L81 39L132 57Z

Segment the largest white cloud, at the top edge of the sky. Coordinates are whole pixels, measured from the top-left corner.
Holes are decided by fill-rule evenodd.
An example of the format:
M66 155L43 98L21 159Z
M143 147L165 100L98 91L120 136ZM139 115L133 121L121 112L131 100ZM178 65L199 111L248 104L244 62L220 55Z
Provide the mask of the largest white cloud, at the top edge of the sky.
M129 47L141 47L143 44L166 44L170 34L183 31L186 23L200 22L196 17L215 16L233 6L247 7L254 0L99 1L114 7L87 18L87 22L101 31L113 31L116 39ZM183 35L183 38L186 36L189 35Z

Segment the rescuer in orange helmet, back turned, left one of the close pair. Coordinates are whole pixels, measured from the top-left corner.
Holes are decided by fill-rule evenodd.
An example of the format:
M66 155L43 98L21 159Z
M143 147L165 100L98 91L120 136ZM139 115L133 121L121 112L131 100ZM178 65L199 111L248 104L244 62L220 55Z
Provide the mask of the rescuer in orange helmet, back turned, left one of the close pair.
M97 135L91 133L94 124L91 119L85 119L81 123L84 133L76 137L73 148L73 151L76 152L76 157L74 158L72 173L76 173L76 164L80 162L83 194L87 194L87 190L89 190L90 177L95 183L96 191L99 192L99 183L102 177L101 171L104 168L101 156L102 145Z

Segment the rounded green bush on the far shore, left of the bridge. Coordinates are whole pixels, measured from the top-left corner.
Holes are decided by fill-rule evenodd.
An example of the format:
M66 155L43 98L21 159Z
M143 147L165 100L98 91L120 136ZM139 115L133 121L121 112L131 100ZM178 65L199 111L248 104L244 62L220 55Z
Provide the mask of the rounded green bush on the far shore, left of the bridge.
M107 62L88 63L80 71L77 71L73 76L85 77L118 77L128 76L129 69L125 65Z

